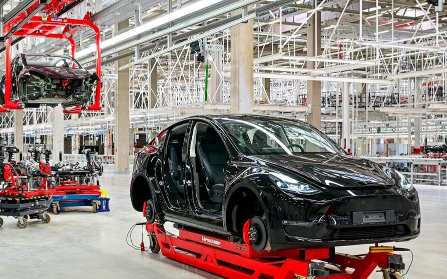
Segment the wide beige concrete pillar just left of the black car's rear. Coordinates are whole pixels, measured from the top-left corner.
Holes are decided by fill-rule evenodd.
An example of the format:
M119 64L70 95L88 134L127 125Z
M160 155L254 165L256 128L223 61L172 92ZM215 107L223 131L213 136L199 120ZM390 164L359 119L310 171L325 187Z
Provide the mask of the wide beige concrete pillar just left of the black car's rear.
M129 26L129 19L118 23L118 30ZM129 173L129 149L130 142L130 87L129 87L129 68L118 71L120 66L129 63L129 58L123 58L117 61L116 71L118 79L116 80L115 91L115 173Z

